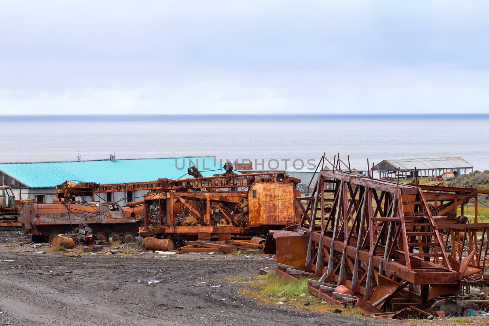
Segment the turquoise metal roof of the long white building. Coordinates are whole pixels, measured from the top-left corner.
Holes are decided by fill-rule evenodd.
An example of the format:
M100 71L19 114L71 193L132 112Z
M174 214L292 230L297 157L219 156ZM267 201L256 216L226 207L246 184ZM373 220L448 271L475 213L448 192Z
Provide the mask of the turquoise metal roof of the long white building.
M66 180L118 183L191 177L187 174L187 169L192 165L195 165L203 176L221 173L222 168L220 162L212 157L196 156L115 161L0 163L0 171L29 188L53 188Z

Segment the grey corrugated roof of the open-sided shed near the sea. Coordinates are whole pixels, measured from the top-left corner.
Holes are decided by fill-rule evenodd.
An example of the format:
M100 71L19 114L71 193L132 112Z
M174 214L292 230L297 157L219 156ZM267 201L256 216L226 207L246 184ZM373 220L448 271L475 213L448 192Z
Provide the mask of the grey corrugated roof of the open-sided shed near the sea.
M428 157L386 159L374 166L375 171L411 171L436 169L471 169L473 165L462 157Z

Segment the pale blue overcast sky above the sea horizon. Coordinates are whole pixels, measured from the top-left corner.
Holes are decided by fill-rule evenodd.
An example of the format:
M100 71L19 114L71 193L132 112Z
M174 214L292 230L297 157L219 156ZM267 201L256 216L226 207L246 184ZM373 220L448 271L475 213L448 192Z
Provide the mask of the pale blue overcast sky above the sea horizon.
M0 114L488 113L488 9L0 0Z

